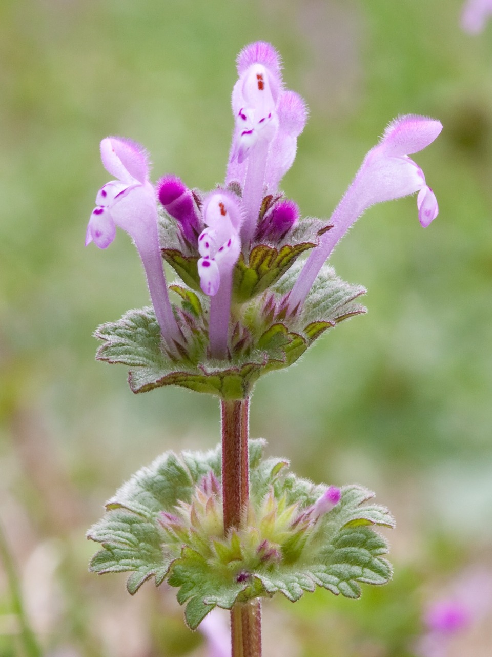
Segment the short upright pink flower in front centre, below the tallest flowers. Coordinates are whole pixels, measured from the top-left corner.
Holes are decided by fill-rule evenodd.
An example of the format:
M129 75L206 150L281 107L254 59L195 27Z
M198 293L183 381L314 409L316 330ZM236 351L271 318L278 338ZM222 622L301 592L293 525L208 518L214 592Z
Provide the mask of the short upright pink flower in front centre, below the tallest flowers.
M205 230L198 238L198 273L203 292L211 296L209 342L211 355L227 353L232 269L241 252L242 214L239 199L231 192L216 191L203 203Z

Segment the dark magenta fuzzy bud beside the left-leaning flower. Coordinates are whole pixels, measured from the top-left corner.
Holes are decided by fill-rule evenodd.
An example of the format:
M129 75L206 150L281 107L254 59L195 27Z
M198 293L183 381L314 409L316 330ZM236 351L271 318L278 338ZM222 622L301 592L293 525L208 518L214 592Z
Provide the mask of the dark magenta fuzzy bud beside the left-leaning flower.
M201 227L199 210L190 189L171 173L157 183L157 196L165 211L178 221L184 237L196 245Z

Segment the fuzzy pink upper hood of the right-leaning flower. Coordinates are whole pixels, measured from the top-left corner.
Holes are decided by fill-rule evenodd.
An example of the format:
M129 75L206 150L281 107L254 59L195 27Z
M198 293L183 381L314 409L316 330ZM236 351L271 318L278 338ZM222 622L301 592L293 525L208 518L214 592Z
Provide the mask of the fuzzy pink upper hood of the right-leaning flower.
M386 155L401 157L428 147L442 130L440 121L417 114L406 114L394 119L380 141Z

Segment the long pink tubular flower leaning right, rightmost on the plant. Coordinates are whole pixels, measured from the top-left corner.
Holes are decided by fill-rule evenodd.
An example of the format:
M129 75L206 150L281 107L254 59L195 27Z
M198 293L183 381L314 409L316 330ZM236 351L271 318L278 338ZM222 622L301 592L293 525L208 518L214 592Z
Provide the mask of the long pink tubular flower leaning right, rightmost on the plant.
M289 296L289 308L302 305L323 263L352 223L375 203L419 192L419 221L427 227L438 215L438 202L420 167L409 158L427 147L442 129L439 121L408 114L394 120L379 144L371 148L352 185L331 216L333 228L321 236Z

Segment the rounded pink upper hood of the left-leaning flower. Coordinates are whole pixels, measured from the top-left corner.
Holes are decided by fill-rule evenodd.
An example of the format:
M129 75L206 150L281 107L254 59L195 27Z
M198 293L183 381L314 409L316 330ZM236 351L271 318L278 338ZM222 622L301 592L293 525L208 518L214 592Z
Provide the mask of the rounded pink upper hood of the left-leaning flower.
M149 158L140 144L123 137L106 137L101 141L104 168L124 183L145 183L149 175Z

